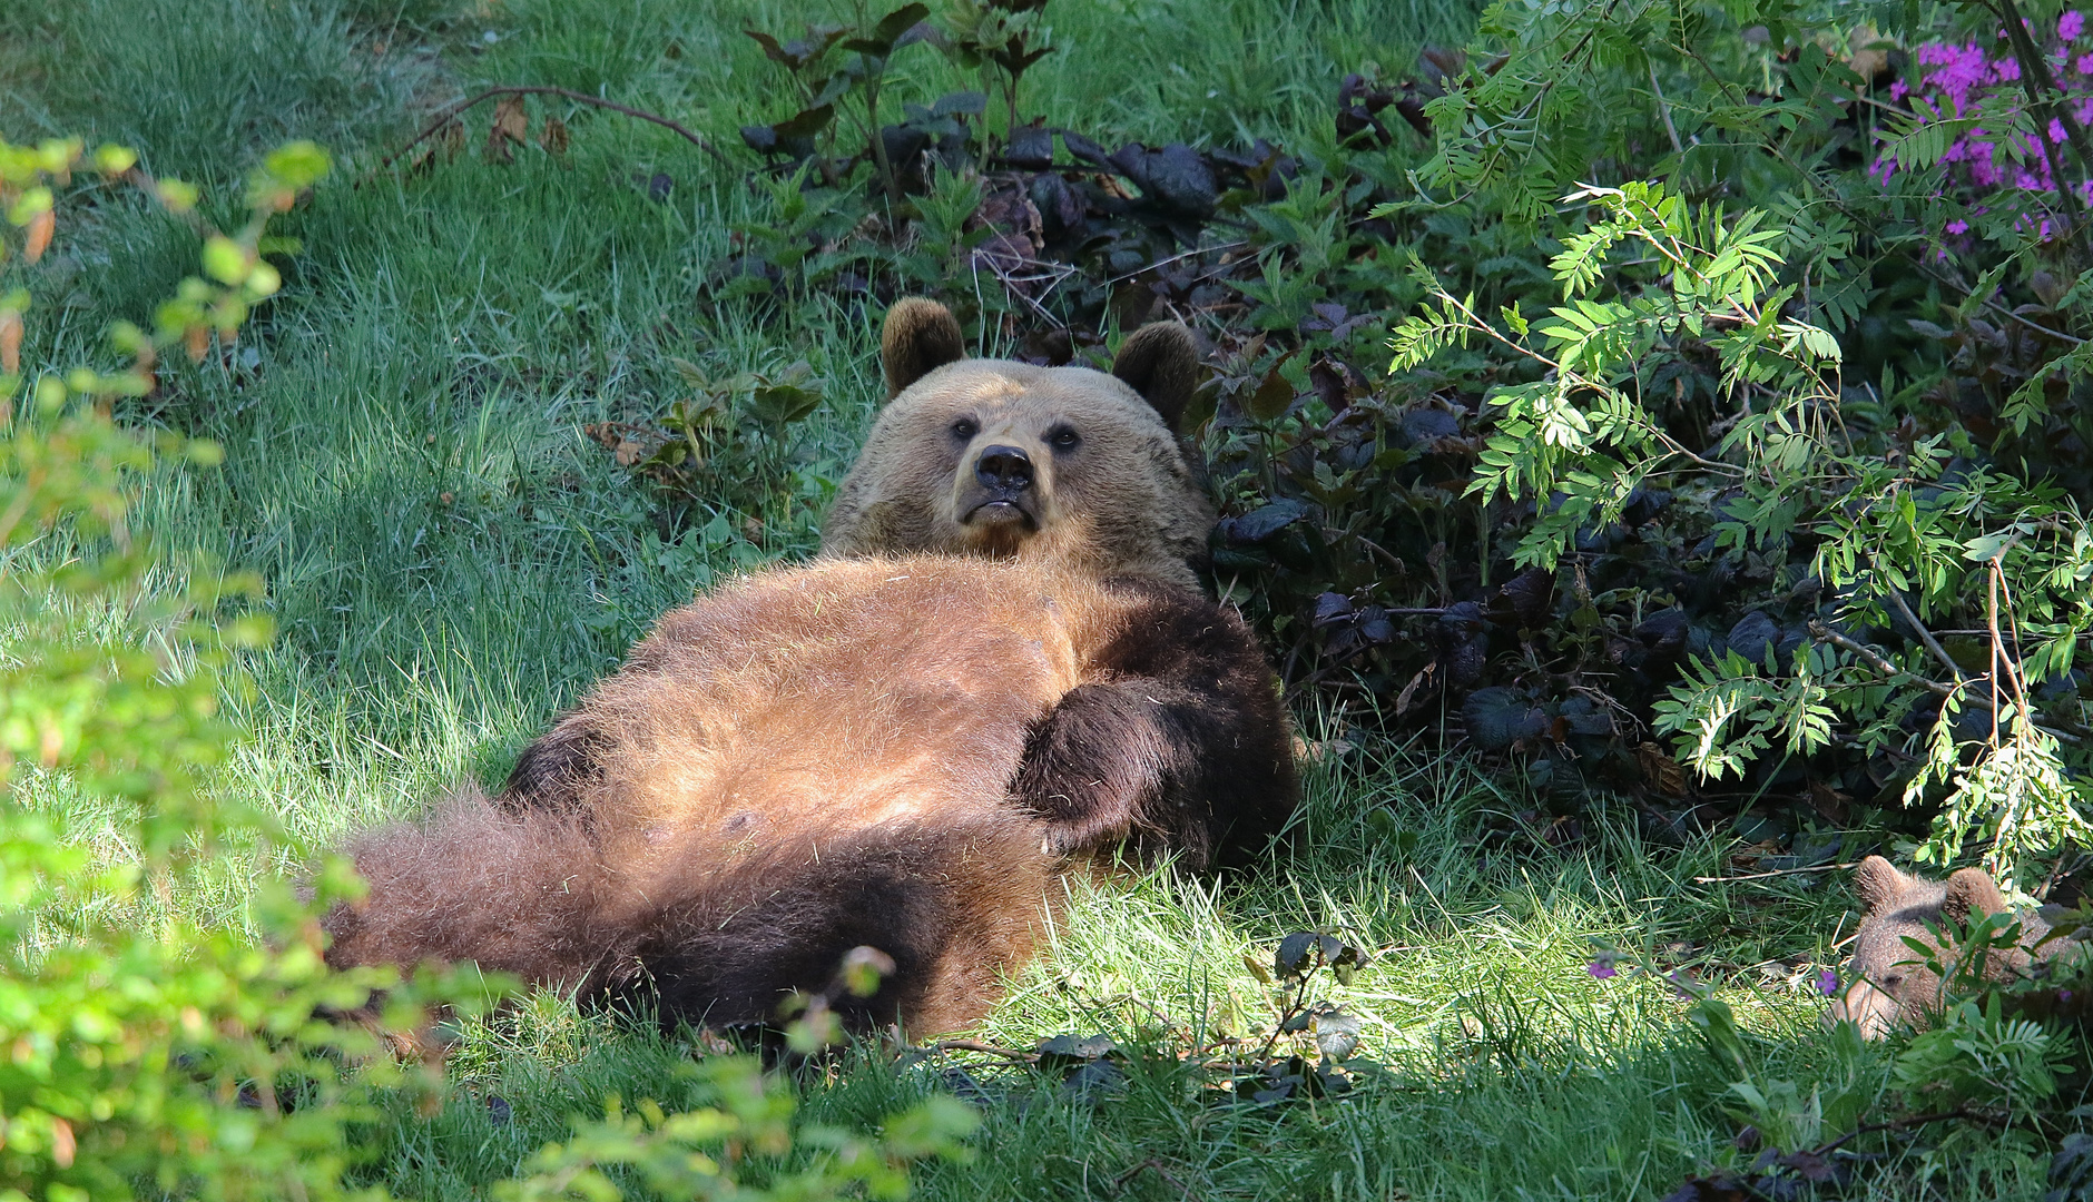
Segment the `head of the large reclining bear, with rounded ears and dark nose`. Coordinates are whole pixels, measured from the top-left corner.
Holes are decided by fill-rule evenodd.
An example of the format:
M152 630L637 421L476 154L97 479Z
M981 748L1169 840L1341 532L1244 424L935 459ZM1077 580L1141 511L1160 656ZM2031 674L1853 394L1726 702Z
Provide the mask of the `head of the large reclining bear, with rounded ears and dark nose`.
M825 555L1042 557L1197 588L1214 509L1176 433L1191 331L1134 331L1111 373L967 358L959 322L902 299L887 404L823 524Z

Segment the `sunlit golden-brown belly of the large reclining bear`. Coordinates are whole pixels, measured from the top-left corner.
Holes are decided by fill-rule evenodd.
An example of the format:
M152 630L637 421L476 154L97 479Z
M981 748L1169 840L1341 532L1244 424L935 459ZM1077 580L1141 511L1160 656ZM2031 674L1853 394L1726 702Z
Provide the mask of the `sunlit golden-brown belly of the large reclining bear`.
M601 777L576 804L632 861L998 813L1101 607L1095 582L954 557L735 584L582 704Z

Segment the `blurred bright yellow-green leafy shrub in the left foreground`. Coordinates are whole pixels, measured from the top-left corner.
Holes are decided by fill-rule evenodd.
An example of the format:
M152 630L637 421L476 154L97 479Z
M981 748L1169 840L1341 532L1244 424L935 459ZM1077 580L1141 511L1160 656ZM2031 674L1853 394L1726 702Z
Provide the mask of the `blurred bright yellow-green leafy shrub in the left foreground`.
M54 191L88 170L77 142L0 142L0 197L33 264L57 224ZM92 168L134 176L103 147ZM0 327L0 1194L132 1198L345 1198L347 1122L358 1089L410 1083L389 1060L343 1078L341 1058L377 1055L329 1011L370 1003L396 1028L421 1024L393 972L329 972L314 909L262 882L245 921L207 921L180 898L213 861L278 844L264 815L211 792L239 731L222 716L241 689L232 655L270 637L262 614L222 616L260 595L253 576L193 572L188 588L149 588L170 565L130 524L155 473L209 467L209 442L117 425L115 402L153 387L155 356L203 354L232 339L276 291L264 228L327 172L310 144L272 153L251 176L249 222L205 232L203 276L161 306L151 335L117 327L121 371L48 371L19 360L25 295ZM195 188L147 186L178 214ZM113 806L121 852L94 850L54 794ZM96 842L109 844L111 833ZM329 863L318 905L354 892ZM255 942L255 932L266 947Z

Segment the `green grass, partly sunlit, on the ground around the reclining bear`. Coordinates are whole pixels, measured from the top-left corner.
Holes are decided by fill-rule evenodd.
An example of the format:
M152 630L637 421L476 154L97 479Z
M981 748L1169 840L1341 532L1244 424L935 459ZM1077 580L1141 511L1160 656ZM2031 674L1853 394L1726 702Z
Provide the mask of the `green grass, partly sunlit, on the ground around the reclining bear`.
M1402 0L1057 0L1063 50L1028 75L1030 105L1116 136L1310 136L1344 71L1400 67L1471 17ZM255 739L224 787L266 798L310 846L412 815L465 775L498 779L661 609L716 572L806 553L818 482L848 463L877 396L871 314L816 302L760 322L695 304L703 264L764 209L661 130L584 113L565 161L465 157L410 182L375 174L377 153L479 82L601 90L730 147L739 124L785 111L739 31L800 19L735 0L0 0L10 140L117 138L159 174L220 188L285 136L337 151L337 178L287 220L306 251L243 343L253 354L172 373L151 413L220 440L224 469L170 475L147 498L176 563L270 582L283 635L251 662ZM902 94L961 84L929 52L898 63ZM666 201L632 182L655 172L674 180ZM61 251L38 283L31 362L80 358L115 316L144 320L195 262L184 228L121 197L69 220ZM666 356L806 358L829 381L800 473L812 488L766 511L756 542L663 542L582 433L663 406ZM1367 823L1375 808L1394 823ZM1591 938L1712 965L1769 1078L1804 1095L1884 1081L1886 1055L1821 1034L1792 972L1833 955L1850 926L1840 890L1697 886L1720 848L1645 846L1626 815L1549 850L1509 819L1522 808L1459 764L1354 752L1310 775L1302 850L1250 882L1072 884L1067 928L977 1037L1105 1030L1145 1053L1124 1091L1088 1099L975 1066L988 1137L971 1166L929 1171L927 1196L1664 1196L1743 1156L1737 1120L1681 1003L1649 980L1593 980ZM213 896L182 905L237 919L251 873L276 867L228 861ZM1275 1112L1201 1101L1170 1049L1268 1026L1241 957L1312 926L1377 951L1337 997L1367 1016L1388 1078ZM402 1196L467 1196L611 1091L684 1097L687 1058L538 999L471 1032L465 1089L442 1112L402 1099L373 1125L370 1175ZM954 1081L942 1068L864 1062L808 1106L871 1122ZM1888 1152L1869 1179L1882 1196L2041 1192L2005 1141Z

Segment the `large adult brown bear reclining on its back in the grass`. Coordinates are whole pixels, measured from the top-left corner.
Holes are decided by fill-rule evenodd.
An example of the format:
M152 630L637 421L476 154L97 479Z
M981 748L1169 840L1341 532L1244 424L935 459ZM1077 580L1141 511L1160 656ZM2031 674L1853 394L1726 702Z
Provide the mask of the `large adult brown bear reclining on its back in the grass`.
M823 557L663 616L498 796L358 840L333 963L473 959L710 1026L823 993L931 1034L988 1009L1067 865L1201 869L1285 825L1277 681L1195 588L1189 331L1032 369L902 302L881 352ZM892 959L871 997L837 988L860 947Z

